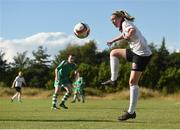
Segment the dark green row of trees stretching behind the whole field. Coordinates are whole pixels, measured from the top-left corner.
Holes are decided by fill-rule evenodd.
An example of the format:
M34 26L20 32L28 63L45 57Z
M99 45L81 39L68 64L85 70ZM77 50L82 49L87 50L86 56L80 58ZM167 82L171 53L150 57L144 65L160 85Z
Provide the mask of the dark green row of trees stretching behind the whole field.
M116 45L117 44L117 45ZM127 48L126 41L116 43L114 48ZM162 91L164 94L174 93L180 89L180 53L169 52L165 38L160 47L149 44L153 56L140 79L140 86ZM113 49L113 48L111 48ZM97 50L96 42L89 41L84 45L69 44L60 50L53 60L47 54L47 48L39 46L32 51L32 58L27 51L17 53L13 61L8 63L4 58L6 52L0 50L0 86L10 86L18 71L22 71L29 87L53 89L54 70L58 64L67 59L69 54L76 57L78 70L85 79L86 87L105 92L115 92L128 88L131 63L120 59L117 86L102 87L101 82L110 78L109 53L111 49ZM71 75L73 81L73 75Z

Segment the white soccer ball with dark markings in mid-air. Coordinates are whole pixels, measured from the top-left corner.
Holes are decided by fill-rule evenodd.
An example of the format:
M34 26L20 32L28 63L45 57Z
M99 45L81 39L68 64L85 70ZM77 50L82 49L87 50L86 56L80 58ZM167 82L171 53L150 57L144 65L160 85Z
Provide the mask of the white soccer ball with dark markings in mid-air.
M74 34L80 38L86 38L90 33L90 28L86 23L78 23L74 27Z

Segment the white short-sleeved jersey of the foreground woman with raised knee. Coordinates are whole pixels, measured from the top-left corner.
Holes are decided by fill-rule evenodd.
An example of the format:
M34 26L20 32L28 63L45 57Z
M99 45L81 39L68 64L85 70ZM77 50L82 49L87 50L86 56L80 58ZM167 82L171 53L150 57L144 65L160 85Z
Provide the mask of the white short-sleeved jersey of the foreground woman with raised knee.
M136 30L135 34L129 38L129 45L132 52L140 56L150 56L152 52L148 47L146 39L132 22L125 20L122 23L122 34L127 35L130 28Z

